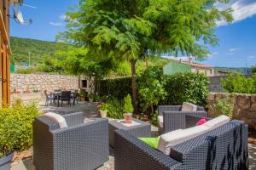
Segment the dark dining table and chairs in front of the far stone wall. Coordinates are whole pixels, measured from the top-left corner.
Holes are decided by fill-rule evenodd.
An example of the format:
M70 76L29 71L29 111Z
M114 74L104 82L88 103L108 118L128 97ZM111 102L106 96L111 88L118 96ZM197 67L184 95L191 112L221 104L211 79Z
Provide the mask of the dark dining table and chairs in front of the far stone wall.
M47 93L47 90L44 90L45 95L45 105L57 105L63 106L63 102L67 102L67 105L78 104L79 102L79 91L78 90L54 90L54 92Z

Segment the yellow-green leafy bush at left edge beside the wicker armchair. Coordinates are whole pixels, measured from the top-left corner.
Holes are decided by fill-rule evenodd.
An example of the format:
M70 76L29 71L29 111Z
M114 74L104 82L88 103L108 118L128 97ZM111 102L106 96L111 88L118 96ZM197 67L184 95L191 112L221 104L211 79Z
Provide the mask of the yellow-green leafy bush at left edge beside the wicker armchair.
M39 116L38 107L34 103L23 105L20 100L13 107L0 109L0 157L32 145L35 116Z

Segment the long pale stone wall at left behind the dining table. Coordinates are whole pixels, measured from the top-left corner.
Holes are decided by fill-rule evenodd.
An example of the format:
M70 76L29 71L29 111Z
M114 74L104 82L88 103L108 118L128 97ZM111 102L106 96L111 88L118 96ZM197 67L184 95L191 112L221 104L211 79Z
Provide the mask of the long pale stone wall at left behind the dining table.
M11 94L52 92L55 89L78 89L79 77L49 74L11 74Z

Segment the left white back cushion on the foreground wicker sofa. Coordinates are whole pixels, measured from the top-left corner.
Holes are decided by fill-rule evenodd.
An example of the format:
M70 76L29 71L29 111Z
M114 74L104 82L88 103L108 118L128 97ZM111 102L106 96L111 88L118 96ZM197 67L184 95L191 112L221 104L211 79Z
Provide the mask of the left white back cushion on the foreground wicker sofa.
M181 144L189 139L193 139L203 133L207 133L208 129L209 128L207 126L200 125L187 129L178 129L170 133L162 134L160 136L157 149L169 156L172 146Z

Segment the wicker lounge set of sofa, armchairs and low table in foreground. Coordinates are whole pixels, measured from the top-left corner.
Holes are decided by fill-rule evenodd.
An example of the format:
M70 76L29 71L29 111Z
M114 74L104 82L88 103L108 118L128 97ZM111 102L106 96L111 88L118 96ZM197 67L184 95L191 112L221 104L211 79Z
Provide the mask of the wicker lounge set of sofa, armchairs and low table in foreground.
M247 124L188 105L159 105L155 147L142 139L151 137L149 122L46 113L33 123L33 163L38 170L93 170L108 162L111 147L115 170L247 170Z

